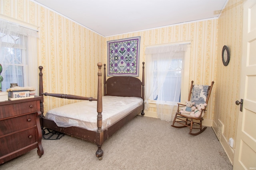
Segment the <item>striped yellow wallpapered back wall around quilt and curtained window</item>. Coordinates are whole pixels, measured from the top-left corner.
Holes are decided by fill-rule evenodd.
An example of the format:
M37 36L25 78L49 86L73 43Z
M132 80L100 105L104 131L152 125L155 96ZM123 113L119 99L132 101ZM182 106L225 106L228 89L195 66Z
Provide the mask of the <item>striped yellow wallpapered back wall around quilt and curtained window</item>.
M145 61L145 49L148 45L191 41L189 82L194 80L194 84L210 85L213 80L215 81L214 73L216 72L217 31L218 20L215 19L116 35L107 37L106 41L140 36L140 69L142 62ZM104 44L104 56L107 56L106 43ZM106 58L105 62L107 62ZM147 63L145 63L145 67L146 66ZM140 72L140 77L141 76ZM188 91L189 89L186 90ZM213 89L208 102L208 111L204 116L205 119L213 119L214 98L215 90ZM149 111L156 112L156 108L150 107Z

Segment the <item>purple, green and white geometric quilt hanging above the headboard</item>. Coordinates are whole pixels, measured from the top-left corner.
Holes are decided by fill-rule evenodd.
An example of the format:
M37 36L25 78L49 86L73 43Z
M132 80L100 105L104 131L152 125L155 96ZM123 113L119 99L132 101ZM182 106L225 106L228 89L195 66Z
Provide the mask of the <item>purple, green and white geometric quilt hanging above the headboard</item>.
M108 76L139 76L140 37L108 41Z

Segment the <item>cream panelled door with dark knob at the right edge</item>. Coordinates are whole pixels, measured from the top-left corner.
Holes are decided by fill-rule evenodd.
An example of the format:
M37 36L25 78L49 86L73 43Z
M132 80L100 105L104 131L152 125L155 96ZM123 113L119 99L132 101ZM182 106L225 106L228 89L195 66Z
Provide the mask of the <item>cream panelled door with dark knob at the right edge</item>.
M256 169L256 0L244 1L240 99L234 170ZM238 99L240 101L240 99ZM239 106L240 107L240 106Z

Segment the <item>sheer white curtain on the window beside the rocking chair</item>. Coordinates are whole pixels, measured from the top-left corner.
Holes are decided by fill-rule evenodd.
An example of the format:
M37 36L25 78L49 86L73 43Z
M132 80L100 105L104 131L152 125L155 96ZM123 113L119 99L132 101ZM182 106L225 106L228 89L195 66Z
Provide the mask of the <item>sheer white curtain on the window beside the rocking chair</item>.
M180 66L180 74L170 75L170 67L174 61L179 61L180 65L184 62L184 51L187 44L169 45L162 47L146 48L146 67L145 67L145 110L149 109L149 102L156 100L156 111L158 118L164 121L173 121L176 112L175 107L180 99L181 76L183 66ZM176 60L175 60L176 59ZM174 68L175 70L176 68ZM164 84L168 82L172 90L166 90ZM165 85L166 87L166 85ZM166 91L171 94L166 94ZM171 96L166 102L166 97Z

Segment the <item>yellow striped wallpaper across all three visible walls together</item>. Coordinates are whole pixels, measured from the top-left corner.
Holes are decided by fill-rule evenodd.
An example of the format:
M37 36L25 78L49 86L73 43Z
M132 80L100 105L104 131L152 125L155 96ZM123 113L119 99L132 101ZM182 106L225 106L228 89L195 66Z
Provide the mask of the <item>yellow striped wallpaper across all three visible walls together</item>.
M225 126L224 138L235 139L238 107L234 102L238 99L240 82L242 4L243 0L230 0L218 20L112 37L102 37L30 0L0 0L0 14L38 26L38 65L44 67L44 92L96 97L96 64L107 63L107 41L141 36L140 68L147 45L191 41L189 81L194 80L196 84L215 81L204 118L213 119L214 125L220 119ZM223 45L230 48L231 55L226 67L221 61ZM44 99L45 111L75 102L47 96Z

